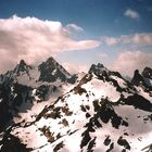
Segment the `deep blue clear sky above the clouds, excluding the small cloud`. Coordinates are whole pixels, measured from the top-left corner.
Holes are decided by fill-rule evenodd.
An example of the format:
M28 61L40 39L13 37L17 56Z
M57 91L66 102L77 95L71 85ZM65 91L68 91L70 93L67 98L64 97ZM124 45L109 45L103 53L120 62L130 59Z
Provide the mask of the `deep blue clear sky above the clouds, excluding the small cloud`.
M17 14L41 20L75 23L92 37L152 30L151 0L1 0L0 17ZM126 9L136 10L141 18L124 17Z

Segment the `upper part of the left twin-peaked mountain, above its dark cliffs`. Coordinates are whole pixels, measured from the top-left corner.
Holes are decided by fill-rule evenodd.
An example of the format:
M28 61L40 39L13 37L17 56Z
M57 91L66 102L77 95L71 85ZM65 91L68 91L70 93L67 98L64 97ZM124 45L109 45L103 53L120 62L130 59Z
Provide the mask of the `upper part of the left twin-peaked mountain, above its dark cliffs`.
M1 76L1 81L10 80L18 84L31 86L40 83L68 81L75 83L75 75L71 75L62 65L53 58L49 58L38 66L27 65L24 60L13 71L8 71Z

